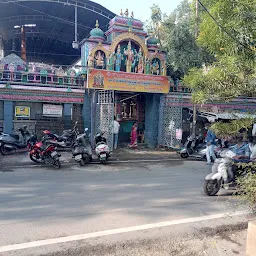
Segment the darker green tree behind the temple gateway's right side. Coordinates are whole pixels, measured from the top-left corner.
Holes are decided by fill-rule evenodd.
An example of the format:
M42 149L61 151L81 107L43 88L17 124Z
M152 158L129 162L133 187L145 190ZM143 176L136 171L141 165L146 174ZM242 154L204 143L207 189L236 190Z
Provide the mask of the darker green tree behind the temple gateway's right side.
M212 63L213 56L196 43L194 14L188 0L183 0L171 14L163 14L159 6L151 7L151 27L167 52L167 65L171 75L183 78L191 67Z

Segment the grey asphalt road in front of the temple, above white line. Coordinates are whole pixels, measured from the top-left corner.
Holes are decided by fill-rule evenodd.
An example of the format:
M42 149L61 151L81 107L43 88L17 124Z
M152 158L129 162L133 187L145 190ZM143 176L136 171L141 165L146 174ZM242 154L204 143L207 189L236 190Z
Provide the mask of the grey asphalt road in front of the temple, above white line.
M202 182L208 172L204 162L189 161L83 168L74 164L61 170L2 164L0 249L30 241L233 212L231 193L203 195ZM36 255L35 251L32 255Z

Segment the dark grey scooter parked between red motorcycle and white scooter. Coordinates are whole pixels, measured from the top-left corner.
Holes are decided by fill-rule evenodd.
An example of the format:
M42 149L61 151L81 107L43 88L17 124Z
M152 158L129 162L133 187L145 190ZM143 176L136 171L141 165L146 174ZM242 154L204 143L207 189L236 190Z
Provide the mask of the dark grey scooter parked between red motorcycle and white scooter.
M75 144L73 146L72 155L81 166L92 161L92 146L90 138L86 134L88 128L84 130L83 134L77 135Z

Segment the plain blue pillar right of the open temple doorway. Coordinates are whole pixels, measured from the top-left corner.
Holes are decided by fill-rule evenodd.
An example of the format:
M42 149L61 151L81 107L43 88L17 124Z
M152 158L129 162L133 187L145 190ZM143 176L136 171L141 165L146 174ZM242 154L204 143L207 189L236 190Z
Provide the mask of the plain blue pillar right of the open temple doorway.
M150 148L157 146L158 123L159 123L160 95L146 94L145 106L145 143Z

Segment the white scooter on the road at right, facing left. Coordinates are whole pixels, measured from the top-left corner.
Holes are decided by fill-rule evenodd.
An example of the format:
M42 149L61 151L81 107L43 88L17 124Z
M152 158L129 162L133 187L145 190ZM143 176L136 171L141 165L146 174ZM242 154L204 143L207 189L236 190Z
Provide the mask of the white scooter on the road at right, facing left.
M212 172L205 177L203 190L206 195L216 195L221 187L226 190L235 188L237 177L244 176L248 173L247 168L239 168L233 165L235 155L229 149L223 150L220 153L221 158L215 160L212 166Z

